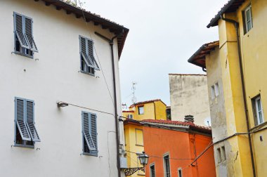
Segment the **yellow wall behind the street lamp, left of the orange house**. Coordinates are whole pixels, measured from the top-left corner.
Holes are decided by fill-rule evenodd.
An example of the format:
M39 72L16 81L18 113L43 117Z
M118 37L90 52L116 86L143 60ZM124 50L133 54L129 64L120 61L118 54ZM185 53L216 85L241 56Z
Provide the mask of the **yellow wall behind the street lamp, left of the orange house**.
M124 136L126 140L126 158L128 168L141 167L138 156L131 152L143 152L143 127L133 124L126 124L124 126ZM129 152L130 151L130 152ZM143 171L137 171L131 175L132 177L144 176Z

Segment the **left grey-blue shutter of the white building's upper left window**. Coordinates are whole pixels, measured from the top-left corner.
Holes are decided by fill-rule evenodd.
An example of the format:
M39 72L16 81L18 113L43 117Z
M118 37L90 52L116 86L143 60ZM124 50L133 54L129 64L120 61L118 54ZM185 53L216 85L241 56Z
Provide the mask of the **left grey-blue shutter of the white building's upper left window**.
M15 16L15 35L18 37L20 46L30 49L30 46L27 44L25 35L23 34L23 17L22 15L14 14Z

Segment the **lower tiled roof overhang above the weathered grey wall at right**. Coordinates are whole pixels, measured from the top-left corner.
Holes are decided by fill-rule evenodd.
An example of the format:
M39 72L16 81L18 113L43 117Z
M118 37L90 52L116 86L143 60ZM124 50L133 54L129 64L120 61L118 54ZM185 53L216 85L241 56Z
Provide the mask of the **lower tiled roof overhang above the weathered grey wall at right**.
M203 44L189 59L188 62L202 68L206 68L206 55L219 46L219 41Z

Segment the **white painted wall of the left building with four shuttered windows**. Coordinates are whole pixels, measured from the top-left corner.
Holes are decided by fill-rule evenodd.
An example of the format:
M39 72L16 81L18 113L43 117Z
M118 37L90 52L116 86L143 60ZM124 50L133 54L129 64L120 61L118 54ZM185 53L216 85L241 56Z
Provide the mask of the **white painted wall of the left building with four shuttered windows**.
M56 105L60 100L114 114L113 98L103 73L96 71L96 77L92 77L79 72L79 35L90 38L91 34L113 97L110 45L94 32L107 37L114 34L92 22L86 25L82 18L63 10L56 11L55 6L45 6L43 1L2 0L0 11L0 176L117 176L115 117L94 112L98 116L98 157L80 155L81 114L93 111L71 105L59 109ZM12 53L13 12L33 19L34 40L39 49L33 59ZM115 60L119 90L117 52ZM41 143L36 143L34 149L11 147L15 96L35 102ZM119 91L117 96L120 109Z

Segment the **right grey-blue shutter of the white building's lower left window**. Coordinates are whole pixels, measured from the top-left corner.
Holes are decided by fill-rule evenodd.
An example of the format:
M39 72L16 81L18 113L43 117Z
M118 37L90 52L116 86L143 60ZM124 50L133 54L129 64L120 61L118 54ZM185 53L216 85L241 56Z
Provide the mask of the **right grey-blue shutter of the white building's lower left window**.
M26 104L26 122L29 129L32 141L40 142L39 135L34 125L34 102L32 100L25 100Z

